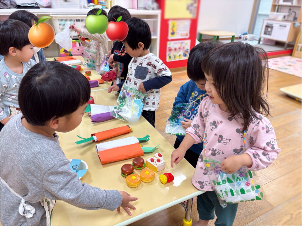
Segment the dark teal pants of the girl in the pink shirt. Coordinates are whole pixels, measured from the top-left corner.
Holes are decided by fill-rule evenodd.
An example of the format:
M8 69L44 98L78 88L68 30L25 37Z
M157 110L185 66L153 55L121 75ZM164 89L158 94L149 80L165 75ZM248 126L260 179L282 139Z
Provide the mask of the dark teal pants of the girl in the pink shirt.
M230 204L223 209L220 206L218 197L215 191L207 191L197 196L197 211L201 220L213 220L215 214L217 219L215 225L233 225L236 217L238 203Z

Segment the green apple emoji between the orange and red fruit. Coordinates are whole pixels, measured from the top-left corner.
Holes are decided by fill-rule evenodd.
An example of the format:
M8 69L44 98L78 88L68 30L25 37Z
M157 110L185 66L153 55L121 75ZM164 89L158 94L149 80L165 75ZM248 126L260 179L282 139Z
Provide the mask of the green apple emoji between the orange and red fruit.
M108 27L108 19L105 15L100 15L102 10L100 9L96 15L89 15L86 17L85 25L90 34L103 34Z

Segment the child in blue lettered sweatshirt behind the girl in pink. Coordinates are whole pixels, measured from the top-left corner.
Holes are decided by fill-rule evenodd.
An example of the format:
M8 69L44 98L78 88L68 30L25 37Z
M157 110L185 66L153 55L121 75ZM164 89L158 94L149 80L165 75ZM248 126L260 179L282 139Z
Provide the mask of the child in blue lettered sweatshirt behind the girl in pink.
M221 45L221 42L219 41L213 42L212 40L210 40L206 42L201 42L191 49L188 58L188 63L187 63L187 74L190 81L180 86L180 89L173 103L173 108L180 103L191 104L200 95L206 93L204 88L206 79L204 77L204 72L201 71L201 61L211 49L214 49L219 45ZM185 118L185 121L181 121L182 127L184 129L187 129L188 127L191 126L191 122L195 118L195 115L197 114L199 108L199 104L203 98L204 97L201 97L200 99L197 99L194 102L194 105L192 105L188 111L188 115L186 116L187 118ZM184 137L185 136L176 135L176 140L174 143L175 149L179 147ZM185 159L193 167L195 167L197 164L197 160L201 153L202 148L203 148L203 143L201 142L198 144L193 144L190 147L190 149L186 151Z

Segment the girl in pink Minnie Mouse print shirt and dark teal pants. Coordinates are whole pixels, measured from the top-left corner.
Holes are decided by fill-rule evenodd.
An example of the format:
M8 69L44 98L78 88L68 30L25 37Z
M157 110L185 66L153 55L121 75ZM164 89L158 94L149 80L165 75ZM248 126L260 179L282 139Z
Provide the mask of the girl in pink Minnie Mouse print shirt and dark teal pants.
M220 206L211 188L212 172L206 170L204 155L220 161L221 170L232 174L242 166L251 171L267 168L280 152L270 122L261 115L269 114L263 94L268 85L267 63L263 49L242 42L218 46L202 60L209 96L201 101L198 117L186 130L179 148L171 154L173 167L194 143L205 142L192 177L195 187L207 191L198 196L200 219L195 225L207 225L214 219L214 210L215 225L232 225L238 206L238 203L227 204L224 209Z

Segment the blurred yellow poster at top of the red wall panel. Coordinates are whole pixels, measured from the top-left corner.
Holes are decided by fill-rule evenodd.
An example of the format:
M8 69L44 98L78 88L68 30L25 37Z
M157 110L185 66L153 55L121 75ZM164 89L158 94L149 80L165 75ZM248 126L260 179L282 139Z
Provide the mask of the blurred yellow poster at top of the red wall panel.
M165 0L164 18L196 18L198 0Z

